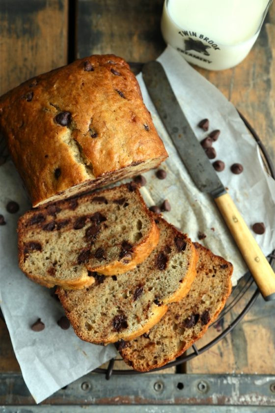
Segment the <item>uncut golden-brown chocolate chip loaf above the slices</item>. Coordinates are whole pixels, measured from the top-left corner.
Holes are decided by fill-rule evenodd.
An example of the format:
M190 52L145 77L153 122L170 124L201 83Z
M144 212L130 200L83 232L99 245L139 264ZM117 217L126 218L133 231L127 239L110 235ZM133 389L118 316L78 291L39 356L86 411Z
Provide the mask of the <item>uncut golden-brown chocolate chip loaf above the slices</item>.
M1 96L0 130L34 207L167 157L135 75L113 55L76 60Z

